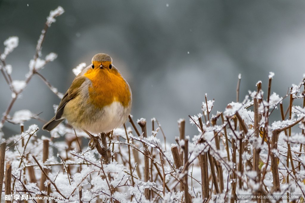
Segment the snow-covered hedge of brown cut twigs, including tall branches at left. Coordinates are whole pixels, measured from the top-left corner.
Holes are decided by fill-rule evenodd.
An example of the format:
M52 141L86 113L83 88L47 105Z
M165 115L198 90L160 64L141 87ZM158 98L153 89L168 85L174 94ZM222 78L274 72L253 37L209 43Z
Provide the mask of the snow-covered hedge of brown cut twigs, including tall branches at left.
M42 137L36 135L37 125L23 126L39 116L28 110L11 116L11 109L33 77L62 97L39 73L57 56L50 53L43 59L41 47L51 23L62 13L61 7L50 12L23 81L11 78L12 66L5 61L18 38L4 42L0 70L12 100L0 129L10 122L20 124L21 132L6 135L0 145L2 200L6 194L16 202L22 195L28 195L27 202L48 202L39 200L47 196L61 198L54 200L58 202L304 201L304 79L280 97L271 94L274 74L270 73L267 94L258 82L255 91L239 102L239 75L237 101L213 115L214 100L206 95L200 113L189 116L198 135L185 136L186 122L180 119L179 137L171 145L155 118L135 122L129 116L127 127L101 133L88 145L88 135L67 124ZM284 99L289 100L288 107L283 106ZM293 105L296 100L303 105ZM276 121L271 123L275 109L281 117L273 117Z

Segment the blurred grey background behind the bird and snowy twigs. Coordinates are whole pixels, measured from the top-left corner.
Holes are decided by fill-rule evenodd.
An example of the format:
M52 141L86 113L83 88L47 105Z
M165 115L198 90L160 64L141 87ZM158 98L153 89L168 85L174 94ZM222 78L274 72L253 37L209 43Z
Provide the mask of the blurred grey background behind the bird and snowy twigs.
M198 133L188 115L201 112L205 93L215 99L212 114L236 100L239 73L243 100L258 80L267 89L270 71L275 73L272 91L280 96L305 72L301 0L0 0L1 52L5 39L19 37L19 46L6 59L13 66L13 79L24 80L46 17L58 5L65 13L48 30L42 49L43 57L55 52L58 58L41 74L65 93L75 77L74 67L81 62L89 65L96 53L111 55L131 86L134 120L156 117L171 142L178 136L179 118L187 120L187 135ZM4 112L11 93L2 75L0 85ZM54 114L52 105L59 101L35 76L11 115L29 109L48 120ZM25 128L30 123L43 124L30 121ZM3 130L7 137L19 129L5 123Z

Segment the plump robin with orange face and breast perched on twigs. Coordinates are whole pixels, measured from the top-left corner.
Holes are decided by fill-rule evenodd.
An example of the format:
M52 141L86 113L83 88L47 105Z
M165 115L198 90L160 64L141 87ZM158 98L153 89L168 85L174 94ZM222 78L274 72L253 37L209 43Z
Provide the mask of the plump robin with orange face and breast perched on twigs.
M107 54L96 54L78 74L42 129L51 131L64 119L77 130L107 133L125 123L131 110L131 89Z

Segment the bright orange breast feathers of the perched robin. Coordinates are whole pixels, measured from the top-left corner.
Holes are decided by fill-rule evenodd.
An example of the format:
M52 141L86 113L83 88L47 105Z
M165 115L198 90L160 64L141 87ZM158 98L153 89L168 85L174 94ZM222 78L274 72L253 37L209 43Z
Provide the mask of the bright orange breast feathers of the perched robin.
M131 101L131 92L124 78L116 70L108 69L90 69L85 77L91 80L92 85L88 88L88 103L102 109L113 103L120 102L122 106L127 107Z

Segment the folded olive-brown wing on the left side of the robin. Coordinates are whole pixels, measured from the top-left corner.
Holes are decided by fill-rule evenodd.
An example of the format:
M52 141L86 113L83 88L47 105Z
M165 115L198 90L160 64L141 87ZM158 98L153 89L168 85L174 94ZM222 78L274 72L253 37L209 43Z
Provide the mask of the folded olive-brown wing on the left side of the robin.
M56 121L61 119L61 117L63 115L63 110L64 110L66 104L80 93L80 90L81 90L80 87L85 80L86 80L86 77L83 75L77 75L77 77L73 80L70 88L68 89L66 94L63 96L63 99L59 103L59 106L58 106L56 114L55 114Z

